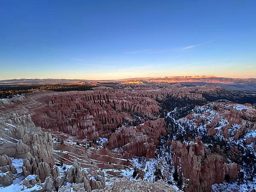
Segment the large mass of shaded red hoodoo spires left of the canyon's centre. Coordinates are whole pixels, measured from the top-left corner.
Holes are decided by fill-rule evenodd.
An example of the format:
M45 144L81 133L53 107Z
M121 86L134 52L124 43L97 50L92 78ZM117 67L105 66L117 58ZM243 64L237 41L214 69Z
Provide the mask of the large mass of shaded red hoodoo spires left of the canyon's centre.
M127 112L149 117L159 112L154 99L113 89L48 96L40 102L45 106L33 116L36 125L90 140L115 130Z

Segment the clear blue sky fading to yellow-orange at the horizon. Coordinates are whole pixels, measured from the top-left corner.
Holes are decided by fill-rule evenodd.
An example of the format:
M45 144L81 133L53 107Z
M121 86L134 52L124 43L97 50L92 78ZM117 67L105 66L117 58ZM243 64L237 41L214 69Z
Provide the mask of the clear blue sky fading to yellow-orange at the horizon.
M256 78L255 0L0 1L0 79Z

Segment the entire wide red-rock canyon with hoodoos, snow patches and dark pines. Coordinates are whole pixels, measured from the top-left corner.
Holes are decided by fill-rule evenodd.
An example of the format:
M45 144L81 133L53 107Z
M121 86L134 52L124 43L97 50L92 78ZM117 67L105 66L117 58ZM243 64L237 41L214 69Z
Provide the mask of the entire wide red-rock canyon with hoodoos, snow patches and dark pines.
M209 192L230 182L253 190L256 169L245 165L255 159L255 98L212 99L220 92L230 97L217 85L161 81L0 99L0 184L96 192L146 182ZM251 103L234 102L244 98Z

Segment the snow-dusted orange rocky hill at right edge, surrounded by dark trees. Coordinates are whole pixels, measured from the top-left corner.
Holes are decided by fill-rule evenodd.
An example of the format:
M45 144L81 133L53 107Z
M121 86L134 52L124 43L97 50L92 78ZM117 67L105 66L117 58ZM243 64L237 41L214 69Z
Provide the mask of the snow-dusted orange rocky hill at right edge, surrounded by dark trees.
M224 137L225 141L240 140L247 145L256 145L256 109L251 104L239 105L226 100L212 102L195 107L186 119L184 122L189 126L205 126L208 135Z

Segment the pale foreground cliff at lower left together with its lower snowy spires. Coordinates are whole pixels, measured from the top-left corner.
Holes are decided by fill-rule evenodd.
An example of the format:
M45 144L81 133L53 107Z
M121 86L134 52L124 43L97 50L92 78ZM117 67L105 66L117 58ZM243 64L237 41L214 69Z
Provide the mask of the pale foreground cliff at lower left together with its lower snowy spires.
M10 124L12 123L12 124ZM101 170L81 168L74 160L73 166L60 174L53 158L52 137L48 132L35 127L29 115L13 113L0 122L0 184L7 186L13 183L17 170L10 157L23 158L22 174L26 177L22 185L31 188L38 185L46 191L56 191L67 182L84 187L84 191L105 187L105 177ZM44 182L44 183L41 183ZM61 188L61 190L64 187Z

